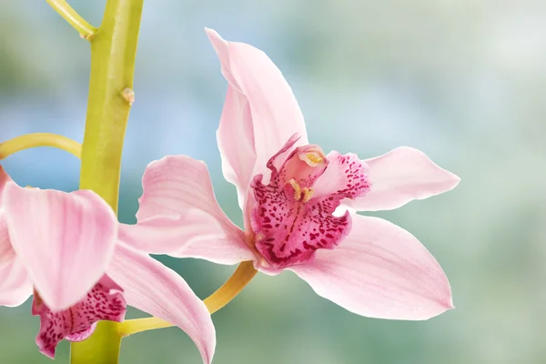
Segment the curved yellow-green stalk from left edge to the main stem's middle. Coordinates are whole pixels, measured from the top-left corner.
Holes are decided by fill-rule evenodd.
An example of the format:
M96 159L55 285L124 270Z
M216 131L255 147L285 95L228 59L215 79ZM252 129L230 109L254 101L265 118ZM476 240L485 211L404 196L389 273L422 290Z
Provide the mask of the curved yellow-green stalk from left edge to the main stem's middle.
M31 147L56 147L80 158L82 145L66 137L51 133L33 133L24 136L15 136L12 139L0 143L0 159L5 159L12 154Z

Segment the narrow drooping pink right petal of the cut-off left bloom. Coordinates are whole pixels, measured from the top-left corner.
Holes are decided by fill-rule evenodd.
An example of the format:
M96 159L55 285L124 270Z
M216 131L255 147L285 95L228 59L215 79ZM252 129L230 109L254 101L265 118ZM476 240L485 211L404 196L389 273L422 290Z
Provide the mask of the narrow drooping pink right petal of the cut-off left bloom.
M216 347L212 319L205 304L175 271L119 243L108 275L124 288L127 304L186 331L203 361L211 362Z

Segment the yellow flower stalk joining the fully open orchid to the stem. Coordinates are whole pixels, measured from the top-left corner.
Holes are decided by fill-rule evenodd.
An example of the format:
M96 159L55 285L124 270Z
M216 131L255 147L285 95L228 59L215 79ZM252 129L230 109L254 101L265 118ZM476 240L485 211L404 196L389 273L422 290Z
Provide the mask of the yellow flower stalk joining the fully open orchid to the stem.
M258 273L258 270L254 268L252 261L239 264L226 283L203 301L208 308L208 312L213 314L226 306L233 298L236 298L240 291L256 276L256 273ZM120 325L119 331L126 337L141 331L164 329L171 326L173 326L171 323L157 318L128 319Z

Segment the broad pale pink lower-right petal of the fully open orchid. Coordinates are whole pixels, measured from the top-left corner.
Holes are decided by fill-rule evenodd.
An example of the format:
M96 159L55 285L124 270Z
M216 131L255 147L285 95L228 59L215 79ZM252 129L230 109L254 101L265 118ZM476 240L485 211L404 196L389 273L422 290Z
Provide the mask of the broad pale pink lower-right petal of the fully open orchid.
M436 259L408 231L377 217L354 215L339 247L288 269L319 296L370 318L430 319L453 308Z

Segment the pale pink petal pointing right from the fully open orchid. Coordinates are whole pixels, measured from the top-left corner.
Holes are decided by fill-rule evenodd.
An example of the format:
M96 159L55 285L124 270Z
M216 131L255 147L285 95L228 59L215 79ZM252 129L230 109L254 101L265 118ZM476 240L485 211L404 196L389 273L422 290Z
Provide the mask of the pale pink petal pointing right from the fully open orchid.
M447 192L460 181L460 177L410 147L399 147L365 162L369 166L371 190L365 197L347 202L349 207L360 211L398 208L414 199Z

